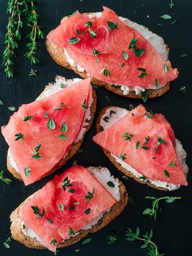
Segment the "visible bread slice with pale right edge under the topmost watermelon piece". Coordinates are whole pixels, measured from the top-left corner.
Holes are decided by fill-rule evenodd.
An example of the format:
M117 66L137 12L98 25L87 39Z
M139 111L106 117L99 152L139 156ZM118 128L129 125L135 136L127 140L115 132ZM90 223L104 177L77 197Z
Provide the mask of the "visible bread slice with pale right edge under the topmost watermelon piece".
M91 12L91 13L83 13L84 15L94 15L99 12ZM70 16L66 16L62 18L61 23L69 18ZM166 59L168 59L169 56L169 47L165 44L164 39L161 37L158 37L158 35L153 34L153 32L149 31L145 26L139 25L137 23L132 22L131 20L128 20L128 18L122 18L119 17L121 20L123 20L124 23L127 23L129 26L134 26L136 29L140 29L144 31L144 37L145 34L148 35L148 37L153 38L153 35L156 37L156 40L158 40L157 46L153 45L154 38L151 40L151 44L158 50L158 48L161 48L160 51L162 51L162 54ZM46 48L48 53L50 53L50 56L53 58L53 60L61 65L62 67L65 67L67 69L72 69L75 73L80 75L82 78L88 78L88 73L86 70L80 71L78 67L72 66L69 64L69 61L67 60L66 53L64 52L64 49L58 48L57 45L55 45L53 42L51 42L49 39L46 39ZM164 53L163 53L164 52ZM142 91L138 94L136 91L129 91L128 94L123 94L123 90L119 88L119 86L114 86L110 83L102 82L101 80L98 80L96 78L91 77L91 81L93 83L96 83L98 86L104 87L105 89L112 91L115 94L118 94L123 97L129 97L134 99L142 99ZM166 94L167 91L169 91L169 83L166 83L165 86L161 87L160 89L146 89L145 90L148 94L148 98L155 98L155 97L161 97L162 95Z

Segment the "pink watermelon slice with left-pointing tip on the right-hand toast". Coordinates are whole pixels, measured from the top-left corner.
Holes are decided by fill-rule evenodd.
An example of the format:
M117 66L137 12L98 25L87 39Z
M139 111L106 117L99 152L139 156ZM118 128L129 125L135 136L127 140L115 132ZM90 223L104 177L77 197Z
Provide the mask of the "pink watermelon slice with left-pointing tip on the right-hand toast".
M150 114L153 118L147 118L146 113L144 106L139 105L111 127L95 135L94 142L116 157L125 154L124 162L134 167L141 176L154 181L187 185L175 151L175 138L171 125L161 114L153 116ZM126 137L122 137L124 132L134 136L131 140L126 140ZM144 145L148 136L150 140ZM158 138L164 140L159 146ZM138 141L140 141L139 148L137 148ZM142 146L147 146L147 149ZM169 166L171 162L175 163L172 167ZM166 172L169 177L166 176Z

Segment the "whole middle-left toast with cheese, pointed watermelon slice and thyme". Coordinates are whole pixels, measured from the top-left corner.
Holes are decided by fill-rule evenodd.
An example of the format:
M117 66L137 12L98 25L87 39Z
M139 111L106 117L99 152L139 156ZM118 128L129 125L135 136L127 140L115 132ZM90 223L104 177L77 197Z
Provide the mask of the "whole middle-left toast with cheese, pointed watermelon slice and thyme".
M22 105L1 128L9 145L9 172L28 185L65 165L82 145L95 111L90 78L57 76L37 100Z

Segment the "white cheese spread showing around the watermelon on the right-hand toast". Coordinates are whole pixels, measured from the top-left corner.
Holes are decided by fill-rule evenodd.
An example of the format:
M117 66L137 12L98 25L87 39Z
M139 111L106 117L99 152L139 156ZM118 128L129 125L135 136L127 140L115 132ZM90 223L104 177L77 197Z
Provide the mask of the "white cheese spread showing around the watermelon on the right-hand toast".
M111 112L114 111L115 113ZM106 113L104 113L104 115L101 117L101 122L100 125L101 127L103 127L103 129L107 129L109 127L112 126L112 124L115 124L116 121L118 121L120 118L123 118L123 116L126 116L126 114L128 113L128 110L126 110L125 108L118 108L118 107L112 107L112 108L108 108ZM107 119L107 121L104 121L104 116L108 116L110 117L109 119ZM176 142L176 152L177 152L177 157L180 160L180 164L183 167L183 172L185 174L188 173L188 165L186 165L185 163L185 158L187 157L187 154L185 152L185 150L183 149L182 144L180 143L180 140L175 139ZM134 169L134 167L131 167L131 165L128 165L126 162L124 162L123 160L119 159L117 156L115 156L115 154L111 154L112 157L115 158L115 160L120 163L120 165L125 168L126 170L128 170L129 172L131 172L135 177L140 178L142 177L142 174L139 173L136 169ZM151 180L151 179L145 179L145 181L149 181L151 184L155 185L156 187L163 187L164 189L168 189L169 191L174 190L174 189L179 189L180 185L177 184L172 184L169 182L165 182L165 181L155 181L155 180Z

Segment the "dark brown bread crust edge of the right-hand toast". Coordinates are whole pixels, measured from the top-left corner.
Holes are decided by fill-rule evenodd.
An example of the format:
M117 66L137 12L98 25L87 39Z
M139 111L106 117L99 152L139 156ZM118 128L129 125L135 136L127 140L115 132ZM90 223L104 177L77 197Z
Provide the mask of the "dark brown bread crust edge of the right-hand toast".
M101 132L100 130L100 123L101 123L101 117L104 115L104 113L106 113L108 108L112 108L113 106L108 106L107 108L103 108L101 110L101 112L99 113L99 116L96 119L96 133ZM136 176L134 176L133 173L131 173L131 171L127 170L126 168L124 168L122 165L120 165L119 162L116 161L116 159L114 157L112 157L110 151L107 151L106 149L102 148L102 150L104 151L104 154L110 159L110 161L113 163L113 165L115 165L115 167L118 168L118 170L120 170L122 173L126 174L126 176L134 178L135 181L138 181L139 183L142 184L147 184L150 187L153 187L154 189L159 189L159 190L165 190L167 191L168 189L164 189L163 187L157 187L154 184L151 184L150 181L142 181L140 178L137 178Z

